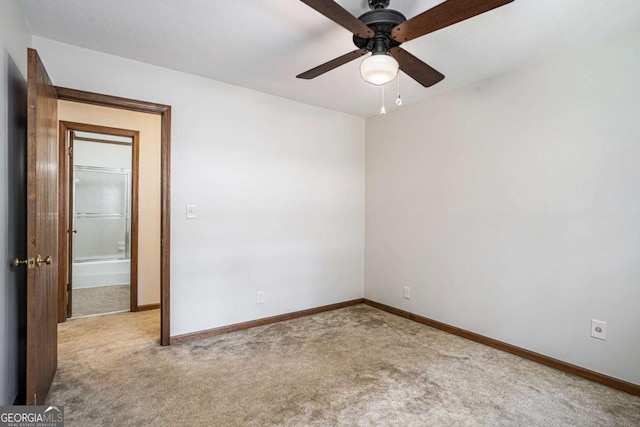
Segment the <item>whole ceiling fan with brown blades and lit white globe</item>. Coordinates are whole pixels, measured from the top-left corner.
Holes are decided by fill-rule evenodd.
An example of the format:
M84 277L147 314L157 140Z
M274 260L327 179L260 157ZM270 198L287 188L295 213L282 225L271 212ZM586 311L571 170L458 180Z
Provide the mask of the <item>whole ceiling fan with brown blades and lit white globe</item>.
M372 55L360 65L360 74L365 81L374 85L389 83L400 69L422 86L429 87L444 79L444 75L400 45L513 0L446 0L409 20L402 13L388 9L389 0L368 0L371 10L357 18L333 0L301 1L351 31L358 49L296 77L313 79L371 52Z

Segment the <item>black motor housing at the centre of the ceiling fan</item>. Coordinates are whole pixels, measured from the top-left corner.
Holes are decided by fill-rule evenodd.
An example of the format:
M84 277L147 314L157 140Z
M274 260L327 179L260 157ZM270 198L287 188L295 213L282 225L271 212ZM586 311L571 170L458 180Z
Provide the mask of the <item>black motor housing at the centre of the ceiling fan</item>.
M376 0L369 1L370 7L373 7L372 3L376 3ZM402 44L391 37L391 30L407 20L402 13L392 9L373 9L360 15L358 19L375 33L369 38L353 36L353 43L360 49L367 49L373 54L386 54L392 47Z

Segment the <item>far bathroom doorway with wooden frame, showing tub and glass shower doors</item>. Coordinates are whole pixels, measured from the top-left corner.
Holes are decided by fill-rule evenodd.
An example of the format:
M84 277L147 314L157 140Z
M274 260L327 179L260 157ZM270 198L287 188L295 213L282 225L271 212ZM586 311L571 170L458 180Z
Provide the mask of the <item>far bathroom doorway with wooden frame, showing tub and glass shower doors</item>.
M139 132L61 121L60 139L69 159L60 305L67 318L136 311Z

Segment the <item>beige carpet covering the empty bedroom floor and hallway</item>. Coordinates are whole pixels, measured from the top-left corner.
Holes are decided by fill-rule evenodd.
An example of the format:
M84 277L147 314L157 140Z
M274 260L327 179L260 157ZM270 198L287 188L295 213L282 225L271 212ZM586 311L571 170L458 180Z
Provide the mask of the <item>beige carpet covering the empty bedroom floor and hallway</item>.
M358 305L160 347L159 311L60 325L67 426L639 426L640 398Z

